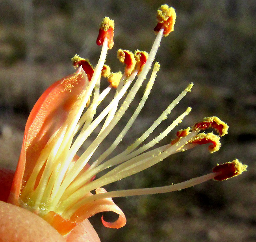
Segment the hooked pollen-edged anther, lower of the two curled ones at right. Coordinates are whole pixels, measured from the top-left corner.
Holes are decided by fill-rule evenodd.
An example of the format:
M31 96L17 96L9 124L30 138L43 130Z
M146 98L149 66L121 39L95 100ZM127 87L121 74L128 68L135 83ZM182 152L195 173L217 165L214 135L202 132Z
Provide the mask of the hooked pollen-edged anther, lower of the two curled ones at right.
M221 143L219 140L220 140L219 136L213 133L207 133L207 134L201 133L201 134L197 134L197 136L195 136L195 138L190 140L188 143L198 144L198 145L211 143L211 145L209 145L208 147L208 150L210 151L210 153L213 153L215 151L218 151L219 148L221 147Z

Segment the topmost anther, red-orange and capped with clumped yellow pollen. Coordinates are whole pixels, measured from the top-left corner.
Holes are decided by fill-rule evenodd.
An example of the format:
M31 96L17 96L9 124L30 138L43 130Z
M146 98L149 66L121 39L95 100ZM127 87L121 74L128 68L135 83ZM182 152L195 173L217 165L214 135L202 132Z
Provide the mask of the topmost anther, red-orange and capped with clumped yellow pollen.
M169 7L167 4L162 5L156 15L158 24L154 28L154 31L158 33L161 28L164 28L164 36L169 35L174 30L174 24L176 21L176 13L173 7Z

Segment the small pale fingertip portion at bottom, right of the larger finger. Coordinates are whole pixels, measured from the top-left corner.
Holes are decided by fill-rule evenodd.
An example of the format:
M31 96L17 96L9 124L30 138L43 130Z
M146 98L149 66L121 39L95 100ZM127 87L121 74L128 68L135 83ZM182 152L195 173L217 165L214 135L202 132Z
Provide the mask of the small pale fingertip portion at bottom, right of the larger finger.
M66 239L67 242L100 242L100 238L88 219L74 227Z

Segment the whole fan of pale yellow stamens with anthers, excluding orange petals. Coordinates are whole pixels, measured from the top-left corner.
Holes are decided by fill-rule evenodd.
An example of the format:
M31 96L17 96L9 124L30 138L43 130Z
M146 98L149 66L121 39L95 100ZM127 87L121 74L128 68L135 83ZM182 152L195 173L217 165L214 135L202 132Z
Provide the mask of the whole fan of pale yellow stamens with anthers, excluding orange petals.
M123 74L121 72L111 73L109 67L105 65L107 51L113 46L114 24L113 20L109 20L109 18L104 18L100 26L97 44L102 45L102 51L96 67L93 68L88 60L82 59L78 57L78 55L72 58L73 65L78 67L76 73L82 73L82 75L87 78L88 85L83 94L78 98L74 108L70 111L63 127L50 139L50 147L49 145L47 146L48 157L46 162L42 164L38 161L36 164L36 166L45 166L43 174L33 172L21 192L20 198L22 202L28 205L33 211L37 211L39 214L55 211L64 218L70 218L72 214L87 202L117 196L176 191L221 176L223 171L217 170L206 176L166 187L113 191L86 196L86 194L94 191L98 187L145 170L171 154L187 150L198 144L211 143L209 147L210 152L218 150L220 146L219 136L226 134L227 126L216 117L207 118L198 122L191 128L177 132L177 137L167 145L152 148L161 141L161 139L167 136L174 127L182 122L182 119L191 111L190 107L180 114L180 116L178 116L169 127L163 130L161 134L158 134L148 143L143 143L156 127L167 118L171 110L173 110L187 92L190 92L193 86L193 83L191 83L163 111L161 116L134 141L134 143L127 147L122 153L108 159L109 155L111 155L117 145L119 145L122 138L134 123L150 94L150 90L160 68L158 62L153 64L155 55L163 35L168 35L169 32L173 31L175 19L176 15L173 8L164 5L158 10L158 25L154 29L157 35L149 54L139 50L132 53L127 50L119 49L118 58L125 64ZM91 166L89 167L89 165L87 165L88 161L91 159L100 143L104 141L111 130L115 128L126 112L143 81L145 81L151 66L153 66L153 68L150 78L135 112L110 147L96 160L90 162ZM100 79L102 76L108 79L109 86L100 92ZM115 88L113 99L106 108L96 116L97 107L113 88ZM76 156L80 147L86 139L95 132L95 129L100 124L102 128L98 132L97 137L83 152L82 156ZM199 133L200 130L206 128L214 128L219 135L213 133L206 134L204 132ZM74 138L75 135L76 138ZM141 145L142 143L143 146ZM74 160L76 160L76 162L74 162ZM239 163L230 166L239 166L237 164ZM112 169L103 176L94 180L92 179L99 172L109 168ZM245 169L245 167L243 167L243 169ZM35 167L34 170L40 169ZM235 169L234 172L236 173L237 169ZM232 176L234 176L234 174L232 174ZM40 179L40 181L35 188L35 182L38 179ZM223 177L219 180L223 180Z

